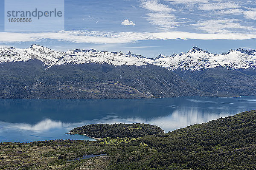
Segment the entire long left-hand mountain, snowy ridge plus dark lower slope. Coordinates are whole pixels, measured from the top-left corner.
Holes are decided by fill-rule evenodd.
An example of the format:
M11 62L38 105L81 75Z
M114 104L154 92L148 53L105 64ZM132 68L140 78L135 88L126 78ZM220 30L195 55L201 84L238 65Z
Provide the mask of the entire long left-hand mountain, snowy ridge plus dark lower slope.
M177 74L131 53L0 48L0 97L148 98L200 95Z

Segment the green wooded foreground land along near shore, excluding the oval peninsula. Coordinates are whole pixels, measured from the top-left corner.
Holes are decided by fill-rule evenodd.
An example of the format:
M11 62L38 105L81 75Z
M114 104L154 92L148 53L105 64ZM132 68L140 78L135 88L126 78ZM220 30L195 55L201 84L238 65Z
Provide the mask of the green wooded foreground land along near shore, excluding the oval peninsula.
M98 129L99 126L95 127ZM92 130L92 127L87 129ZM131 127L134 125L123 129ZM125 138L99 137L102 140L0 143L0 169L256 169L256 110L169 133ZM106 155L70 161L88 154Z

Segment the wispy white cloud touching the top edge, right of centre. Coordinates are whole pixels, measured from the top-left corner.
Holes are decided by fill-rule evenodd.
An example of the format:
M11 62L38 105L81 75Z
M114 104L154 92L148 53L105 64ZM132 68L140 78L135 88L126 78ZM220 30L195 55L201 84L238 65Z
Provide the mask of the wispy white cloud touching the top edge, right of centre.
M149 11L153 12L170 12L175 11L174 9L170 8L167 5L158 3L157 0L145 0L142 1L141 6Z

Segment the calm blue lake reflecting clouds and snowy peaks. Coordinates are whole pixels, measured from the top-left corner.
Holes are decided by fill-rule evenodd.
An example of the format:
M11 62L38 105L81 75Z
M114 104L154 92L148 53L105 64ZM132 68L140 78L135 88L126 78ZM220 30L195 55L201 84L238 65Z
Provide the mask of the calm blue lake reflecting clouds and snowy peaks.
M165 99L0 99L0 142L93 140L67 135L92 123L148 123L166 132L256 109L256 96Z

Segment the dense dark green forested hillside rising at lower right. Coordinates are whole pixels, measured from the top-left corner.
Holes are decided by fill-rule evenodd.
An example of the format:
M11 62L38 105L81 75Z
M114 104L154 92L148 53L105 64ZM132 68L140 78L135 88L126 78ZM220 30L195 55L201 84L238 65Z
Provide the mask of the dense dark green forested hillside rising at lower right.
M255 170L256 110L139 141L157 150L150 167Z

